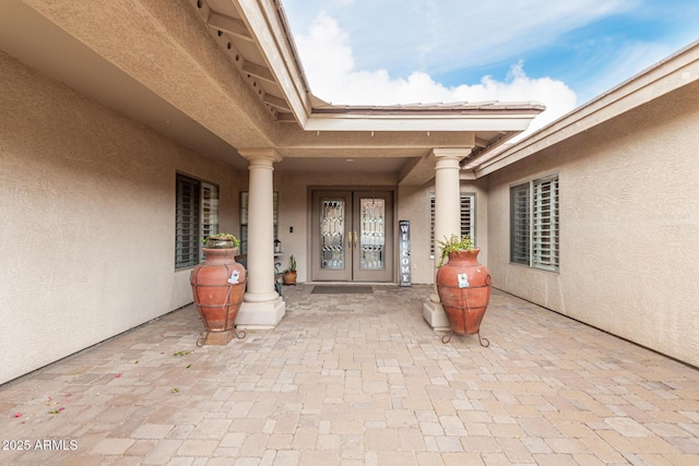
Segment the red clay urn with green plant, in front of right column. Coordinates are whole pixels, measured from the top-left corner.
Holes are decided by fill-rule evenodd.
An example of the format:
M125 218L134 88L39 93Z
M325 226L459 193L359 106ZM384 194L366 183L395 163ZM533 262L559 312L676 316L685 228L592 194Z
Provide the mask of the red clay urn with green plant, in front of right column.
M477 261L479 248L466 236L452 235L437 241L441 249L441 260L437 271L437 291L445 308L451 332L457 335L478 335L482 346L488 346L481 338L481 321L490 300L490 272ZM445 260L448 262L445 264ZM451 333L445 335L445 343ZM485 343L484 343L485 342Z

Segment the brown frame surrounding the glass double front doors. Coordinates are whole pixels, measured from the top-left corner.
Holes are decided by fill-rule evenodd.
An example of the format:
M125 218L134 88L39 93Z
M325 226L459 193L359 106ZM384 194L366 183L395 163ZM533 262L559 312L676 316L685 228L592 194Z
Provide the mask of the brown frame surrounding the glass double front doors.
M339 192L339 191L351 191L353 196L355 192L371 192L371 191L383 191L383 192L390 192L391 193L391 200L392 200L392 206L391 206L391 215L392 215L392 220L391 220L391 236L390 239L387 237L387 241L390 240L391 241L391 262L389 263L387 260L387 266L391 267L391 272L390 272L390 278L382 280L382 282L376 282L376 283L398 283L398 266L395 264L395 258L398 258L398 188L395 186L356 186L356 184L340 184L340 186L323 186L323 184L313 184L313 186L309 186L307 187L307 207L306 207L306 231L308 231L307 238L306 238L306 270L308 271L308 282L318 282L318 283L327 283L328 280L322 280L322 279L318 279L317 277L313 276L313 262L315 260L318 260L318 251L315 250L313 248L313 228L316 227L316 225L313 225L313 215L312 215L312 208L313 208L313 198L315 198L315 193L318 191L324 191L324 192ZM354 215L354 214L353 214ZM387 258L388 259L388 258ZM352 277L348 280L343 280L342 283L372 283L372 282L359 282L359 280L354 280Z

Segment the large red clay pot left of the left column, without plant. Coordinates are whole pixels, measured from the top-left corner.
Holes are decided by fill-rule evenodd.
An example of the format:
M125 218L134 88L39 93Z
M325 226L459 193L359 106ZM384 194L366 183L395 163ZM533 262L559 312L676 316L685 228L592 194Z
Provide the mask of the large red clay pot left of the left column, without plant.
M204 248L204 262L190 275L194 303L206 330L204 345L226 345L236 336L235 321L246 286L237 248Z

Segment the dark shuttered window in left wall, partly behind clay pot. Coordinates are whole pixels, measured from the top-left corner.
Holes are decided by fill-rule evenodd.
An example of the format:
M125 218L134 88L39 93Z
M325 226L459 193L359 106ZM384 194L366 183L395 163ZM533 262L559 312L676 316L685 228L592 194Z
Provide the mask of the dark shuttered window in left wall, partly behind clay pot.
M218 232L218 187L177 175L175 268L201 262L201 238Z

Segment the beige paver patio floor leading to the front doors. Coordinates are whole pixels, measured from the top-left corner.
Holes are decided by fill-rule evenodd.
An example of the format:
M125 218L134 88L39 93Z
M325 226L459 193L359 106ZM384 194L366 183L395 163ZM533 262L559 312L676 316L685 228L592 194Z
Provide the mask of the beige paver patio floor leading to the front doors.
M484 348L430 286L311 289L224 347L189 306L0 385L0 464L699 464L695 368L499 291Z

